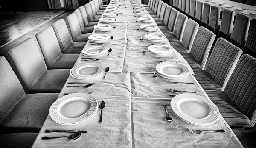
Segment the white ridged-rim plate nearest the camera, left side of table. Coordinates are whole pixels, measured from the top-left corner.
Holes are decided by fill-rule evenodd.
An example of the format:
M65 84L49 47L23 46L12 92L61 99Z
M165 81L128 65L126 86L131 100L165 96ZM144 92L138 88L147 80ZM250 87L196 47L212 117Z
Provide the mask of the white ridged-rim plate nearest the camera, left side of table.
M73 93L52 103L49 115L58 124L75 125L93 117L97 109L97 100L92 95Z

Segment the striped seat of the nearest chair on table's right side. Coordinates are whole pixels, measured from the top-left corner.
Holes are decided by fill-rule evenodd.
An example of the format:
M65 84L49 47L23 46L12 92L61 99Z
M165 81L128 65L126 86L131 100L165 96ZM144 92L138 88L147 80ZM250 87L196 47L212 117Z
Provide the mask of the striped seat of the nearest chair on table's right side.
M231 128L242 128L250 125L248 117L231 101L225 92L206 90L211 101L218 107L224 120Z

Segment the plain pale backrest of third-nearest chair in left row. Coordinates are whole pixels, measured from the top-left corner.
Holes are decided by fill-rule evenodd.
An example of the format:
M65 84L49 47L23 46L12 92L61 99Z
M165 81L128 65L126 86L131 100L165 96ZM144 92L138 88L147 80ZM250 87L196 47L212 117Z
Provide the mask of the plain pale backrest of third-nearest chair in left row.
M59 58L61 47L52 26L47 27L43 31L35 35L41 51L44 56L44 61L48 69L52 69L55 61Z

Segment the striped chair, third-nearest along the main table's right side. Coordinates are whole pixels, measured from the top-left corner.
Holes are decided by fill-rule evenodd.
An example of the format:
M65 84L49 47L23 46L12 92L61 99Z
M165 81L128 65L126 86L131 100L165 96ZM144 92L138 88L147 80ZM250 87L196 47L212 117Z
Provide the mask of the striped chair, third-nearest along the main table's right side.
M180 53L192 69L204 69L216 35L203 26L198 28L191 51Z

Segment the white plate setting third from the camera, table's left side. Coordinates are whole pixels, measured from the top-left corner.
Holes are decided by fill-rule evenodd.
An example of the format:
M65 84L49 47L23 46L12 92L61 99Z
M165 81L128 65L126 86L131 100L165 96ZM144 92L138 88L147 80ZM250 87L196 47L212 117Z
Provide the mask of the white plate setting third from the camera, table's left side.
M102 58L108 53L108 50L105 47L101 46L93 46L93 47L87 47L82 50L82 55L90 58Z

